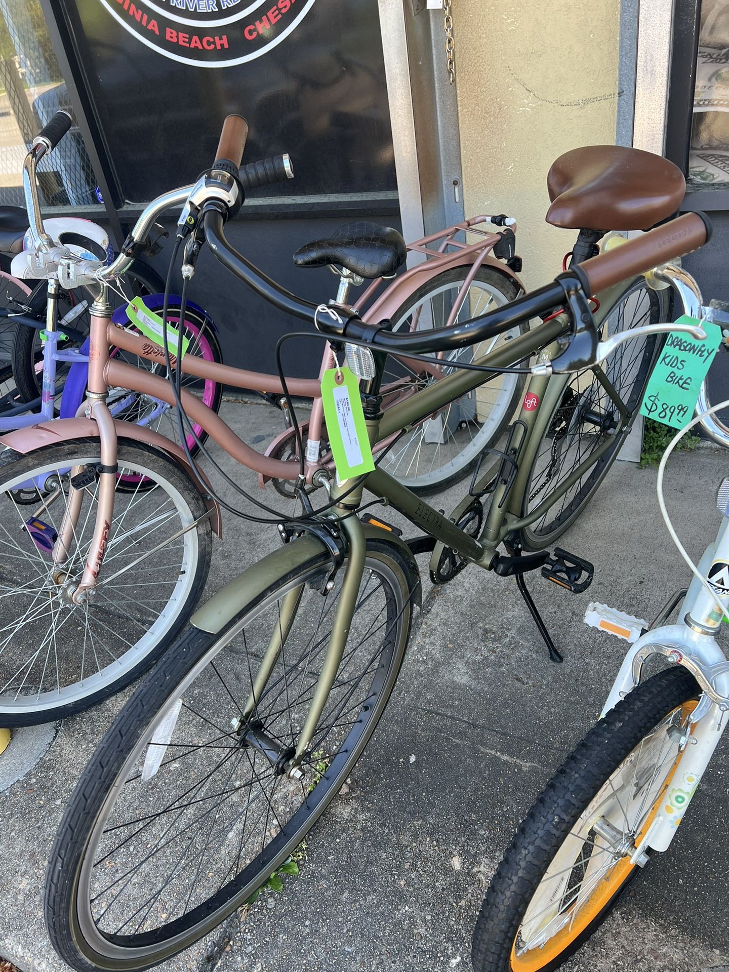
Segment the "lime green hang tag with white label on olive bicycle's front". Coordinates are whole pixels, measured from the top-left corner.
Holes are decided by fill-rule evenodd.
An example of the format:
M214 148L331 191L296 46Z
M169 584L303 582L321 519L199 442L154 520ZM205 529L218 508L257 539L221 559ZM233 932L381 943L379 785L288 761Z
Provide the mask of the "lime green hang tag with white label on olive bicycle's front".
M348 367L324 372L322 403L339 482L371 472L374 460L364 424L360 383Z

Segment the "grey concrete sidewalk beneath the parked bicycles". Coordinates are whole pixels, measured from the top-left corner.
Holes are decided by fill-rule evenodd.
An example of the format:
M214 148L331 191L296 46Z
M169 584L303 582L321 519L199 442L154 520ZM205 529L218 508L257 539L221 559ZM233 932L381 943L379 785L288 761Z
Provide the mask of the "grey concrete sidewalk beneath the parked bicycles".
M280 422L259 405L225 409L226 420L254 443ZM712 450L672 460L667 499L694 556L715 533L715 491L727 473L726 455ZM255 485L247 470L240 478ZM449 511L464 491L456 487L435 505ZM279 499L271 493L269 502ZM210 592L277 544L273 528L229 515L225 526ZM408 527L405 536L413 533ZM160 968L470 968L469 938L485 885L539 789L594 722L624 653L625 642L585 627L588 601L651 617L686 583L655 501L655 470L616 464L561 542L597 571L581 596L530 578L565 653L562 666L548 660L512 579L471 568L434 590L428 558L419 558L426 597L399 684L349 791L310 835L300 874L283 893L261 895L246 916ZM0 955L21 972L65 968L42 919L47 855L63 806L122 703L117 697L67 719L41 762L0 795ZM728 753L725 744L717 750L671 851L651 861L566 972L729 966Z

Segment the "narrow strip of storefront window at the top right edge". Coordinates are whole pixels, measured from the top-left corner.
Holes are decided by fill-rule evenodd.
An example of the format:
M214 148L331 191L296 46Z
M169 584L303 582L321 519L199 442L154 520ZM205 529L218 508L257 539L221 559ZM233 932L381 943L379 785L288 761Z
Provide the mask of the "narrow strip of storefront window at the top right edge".
M729 184L729 0L703 0L689 182Z

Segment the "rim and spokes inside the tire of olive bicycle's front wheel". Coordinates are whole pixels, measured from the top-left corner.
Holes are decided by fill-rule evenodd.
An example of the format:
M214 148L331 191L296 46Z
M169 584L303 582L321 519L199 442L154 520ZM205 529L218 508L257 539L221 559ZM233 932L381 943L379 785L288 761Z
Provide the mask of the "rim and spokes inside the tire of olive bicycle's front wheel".
M275 872L346 779L370 727L384 708L403 649L401 618L407 602L384 562L367 560L358 599L360 610L355 613L311 754L303 764L305 780L291 781L273 774L268 758L257 748L241 746L237 731L230 725L231 718L241 717L256 672L254 661L260 663L260 653L268 642L271 618L274 627L281 624L283 597L296 596L302 580L308 577L315 581L322 569L319 566L303 576L299 574L217 642L173 689L174 697L156 714L125 760L94 823L77 889L81 932L97 955L108 959L128 957L131 949L139 950L138 955L160 955L161 950L169 955L191 944L239 907ZM333 616L331 606L337 593L338 582L326 596L303 585L301 605L269 682L270 691L260 696L257 719L250 720L251 724L263 722L268 739L282 748L295 742L295 731L300 729L298 718L304 712L303 704L310 699L323 660L328 622ZM307 609L312 606L312 610ZM361 608L365 606L363 612ZM322 621L324 624L319 623ZM301 651L294 648L295 635L301 636ZM358 664L362 651L364 668ZM284 656L289 657L290 675L295 672L295 679L283 676ZM358 678L352 672L361 674ZM211 705L213 688L220 700L219 708ZM206 700L204 714L199 708L202 699ZM175 715L178 700L182 702ZM169 724L167 735L160 735L160 727L171 713L172 735ZM193 726L207 734L206 742L190 735ZM283 734L282 726L286 728ZM336 739L330 743L334 732ZM192 738L197 739L193 745ZM156 740L161 740L164 747L161 756L154 748ZM334 746L335 751L330 752L329 746ZM217 749L211 754L214 747ZM207 755L206 748L210 750ZM151 752L157 761L161 759L161 765L152 780L144 782L144 765L154 758L150 757ZM206 772L205 759L214 766L213 774ZM200 770L203 763L205 767ZM248 787L243 782L245 778ZM277 790L281 785L287 790ZM145 786L150 788L143 793ZM207 794L206 786L210 790ZM266 807L264 796L259 796L256 806L249 795L265 794L266 788L275 797L272 810ZM170 793L175 795L170 798ZM183 800L189 802L183 804ZM274 799L270 803L273 805ZM134 818L130 816L131 808ZM253 813L258 817L254 819ZM170 816L175 816L172 824ZM254 833L257 840L251 844ZM198 860L194 854L200 844ZM260 851L255 853L259 844ZM135 857L137 848L139 863ZM215 860L208 852L211 848L215 849ZM167 869L160 863L162 852L171 865ZM125 863L120 873L117 858L122 857ZM134 862L131 868L130 861ZM155 875L152 881L148 880L151 871ZM121 898L132 881L152 894L143 909L139 909L138 900L136 906L130 903L128 907L133 912L127 916ZM163 901L155 897L157 887L160 895L165 893ZM112 899L115 893L117 896ZM112 930L113 925L118 926Z

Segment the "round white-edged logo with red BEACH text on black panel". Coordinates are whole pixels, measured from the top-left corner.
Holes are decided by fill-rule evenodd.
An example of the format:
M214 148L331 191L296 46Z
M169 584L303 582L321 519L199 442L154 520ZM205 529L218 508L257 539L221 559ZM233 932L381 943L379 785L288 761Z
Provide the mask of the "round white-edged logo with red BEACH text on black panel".
M196 67L228 67L272 50L315 0L99 0L153 51Z

